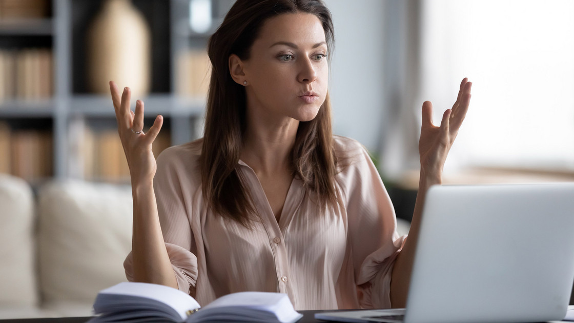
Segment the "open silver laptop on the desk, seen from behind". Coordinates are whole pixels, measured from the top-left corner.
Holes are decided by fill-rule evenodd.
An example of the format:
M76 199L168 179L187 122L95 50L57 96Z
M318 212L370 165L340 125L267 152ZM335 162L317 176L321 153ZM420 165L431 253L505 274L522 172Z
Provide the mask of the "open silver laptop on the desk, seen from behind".
M433 186L406 309L324 312L315 318L560 321L573 282L574 183Z

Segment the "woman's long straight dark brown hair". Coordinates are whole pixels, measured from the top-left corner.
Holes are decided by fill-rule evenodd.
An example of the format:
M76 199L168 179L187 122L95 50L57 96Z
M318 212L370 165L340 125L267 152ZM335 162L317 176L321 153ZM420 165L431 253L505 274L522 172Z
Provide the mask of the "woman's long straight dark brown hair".
M329 51L334 46L331 13L321 0L238 0L207 51L212 64L201 154L203 194L216 214L249 226L257 214L250 191L236 169L246 128L245 88L228 69L231 54L249 59L251 45L265 21L284 13L311 13L321 21ZM336 202L336 160L333 153L329 95L317 116L300 122L292 153L293 174L316 193L320 206Z

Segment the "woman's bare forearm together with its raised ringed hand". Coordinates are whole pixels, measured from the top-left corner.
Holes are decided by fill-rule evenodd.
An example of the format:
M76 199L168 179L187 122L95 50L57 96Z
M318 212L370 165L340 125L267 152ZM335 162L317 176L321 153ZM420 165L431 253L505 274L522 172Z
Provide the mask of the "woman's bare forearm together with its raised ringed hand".
M125 87L120 93L118 85L110 81L110 93L118 121L119 139L130 168L131 194L134 201L131 237L134 279L137 282L177 288L177 280L161 232L156 194L153 191L157 163L152 144L160 133L164 118L158 115L153 125L144 133L144 102L137 100L135 112L132 112L129 87Z

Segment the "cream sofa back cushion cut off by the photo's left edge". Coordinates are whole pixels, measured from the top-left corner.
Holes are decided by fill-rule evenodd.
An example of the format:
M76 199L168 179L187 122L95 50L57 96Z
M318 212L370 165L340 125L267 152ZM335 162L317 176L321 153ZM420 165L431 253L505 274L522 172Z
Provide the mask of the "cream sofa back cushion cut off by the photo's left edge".
M0 309L38 303L34 219L28 183L0 174Z

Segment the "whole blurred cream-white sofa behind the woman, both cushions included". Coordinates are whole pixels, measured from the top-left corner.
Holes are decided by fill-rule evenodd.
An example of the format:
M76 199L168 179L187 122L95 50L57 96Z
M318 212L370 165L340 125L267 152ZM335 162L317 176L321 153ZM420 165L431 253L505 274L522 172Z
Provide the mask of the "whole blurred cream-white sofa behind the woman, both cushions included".
M129 186L51 180L34 192L0 174L0 319L90 316L98 291L126 280L132 207Z

